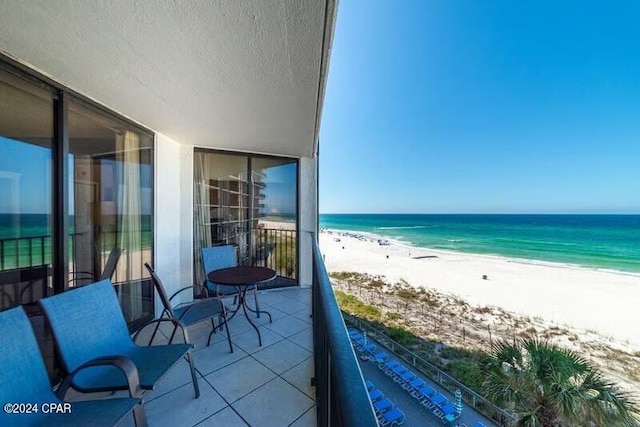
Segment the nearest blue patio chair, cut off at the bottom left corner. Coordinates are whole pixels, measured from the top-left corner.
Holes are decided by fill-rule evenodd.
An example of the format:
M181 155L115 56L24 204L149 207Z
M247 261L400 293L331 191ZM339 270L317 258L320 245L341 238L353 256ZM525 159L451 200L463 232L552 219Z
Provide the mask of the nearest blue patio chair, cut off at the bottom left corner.
M132 412L138 427L147 425L139 396L138 373L131 360L111 357L88 361L78 366L54 394L31 323L21 306L0 313L0 349L0 401L3 404L37 404L31 408L32 413L26 414L7 413L7 408L11 407L5 406L5 410L0 412L1 426L110 427L123 421ZM112 365L113 369L120 371L130 397L64 402L70 379L85 368L100 365ZM49 409L59 409L61 412L47 413Z

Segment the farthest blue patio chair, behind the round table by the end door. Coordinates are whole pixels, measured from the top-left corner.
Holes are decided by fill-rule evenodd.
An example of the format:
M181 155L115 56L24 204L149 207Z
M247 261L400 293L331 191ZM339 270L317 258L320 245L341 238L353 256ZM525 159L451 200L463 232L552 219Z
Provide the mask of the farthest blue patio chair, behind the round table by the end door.
M228 285L218 285L217 283L212 283L207 278L207 274L211 273L215 270L220 270L222 268L236 267L238 265L238 260L236 258L236 250L233 245L222 245L222 246L213 246L210 248L202 248L202 268L204 269L204 285L207 290L216 297L224 297L233 295L233 303L235 304L238 297L238 289L235 286ZM258 287L253 285L248 289L248 291L252 291L253 298L256 303L256 309L249 310L257 313L256 317L260 317L260 304L258 303Z

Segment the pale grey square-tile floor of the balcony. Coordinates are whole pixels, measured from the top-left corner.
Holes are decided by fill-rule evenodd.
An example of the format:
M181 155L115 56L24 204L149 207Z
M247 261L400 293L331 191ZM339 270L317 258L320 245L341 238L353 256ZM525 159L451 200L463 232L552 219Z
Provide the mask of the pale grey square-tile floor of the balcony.
M207 347L210 325L205 322L189 328L190 341L196 345L200 398L194 398L188 364L183 360L146 395L149 426L316 425L315 389L310 383L311 290L263 291L259 302L273 318L273 323L264 314L252 318L259 324L262 347L242 310L229 325L233 353L224 332L215 334ZM121 423L131 425L132 417Z

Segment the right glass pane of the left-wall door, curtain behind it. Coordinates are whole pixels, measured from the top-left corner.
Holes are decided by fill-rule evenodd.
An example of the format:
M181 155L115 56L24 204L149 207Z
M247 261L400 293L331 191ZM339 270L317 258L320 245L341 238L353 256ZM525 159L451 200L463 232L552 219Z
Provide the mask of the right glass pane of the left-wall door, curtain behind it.
M69 105L69 286L109 278L128 321L150 313L152 138L79 103Z

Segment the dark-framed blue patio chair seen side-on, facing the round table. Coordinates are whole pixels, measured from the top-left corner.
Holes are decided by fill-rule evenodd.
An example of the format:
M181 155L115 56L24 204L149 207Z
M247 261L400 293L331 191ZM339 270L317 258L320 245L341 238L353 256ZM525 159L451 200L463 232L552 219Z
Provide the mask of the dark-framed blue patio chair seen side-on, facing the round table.
M151 280L153 281L153 285L155 286L156 291L160 296L160 300L162 301L162 306L164 307L164 309L162 310L162 315L160 315L160 318L162 318L163 316L166 316L168 318L177 319L177 320L180 320L182 323L184 323L184 325L187 327L191 325L195 325L197 323L211 321L212 329L211 329L211 332L209 332L209 339L207 340L207 346L211 344L211 336L215 333L216 329L220 328L220 330L222 330L226 327L227 340L229 341L229 350L231 351L231 353L233 353L233 345L231 344L231 333L229 332L229 325L227 324L227 312L226 312L226 309L224 308L224 304L219 298L208 297L208 298L194 299L187 303L178 304L177 306L173 307L171 300L173 300L176 296L182 294L185 291L190 291L192 294L194 290L202 291L202 287L201 286L185 286L169 297L167 296L167 292L164 289L164 285L162 284L162 281L160 280L160 277L158 277L158 275L156 274L155 270L146 262L144 263L144 266L149 271L149 274L151 274ZM200 296L203 296L202 292L200 292ZM215 319L219 319L219 324L217 326L215 324ZM153 331L153 334L151 334L151 339L149 340L149 344L153 342L153 339L156 333L158 332L159 326L160 326L160 323L156 322L156 326ZM136 335L133 337L134 341L136 340L138 334L142 330L143 329L140 329L138 333L136 333ZM169 343L173 342L173 338L175 336L176 330L177 330L176 328L173 329L173 334L169 338Z

